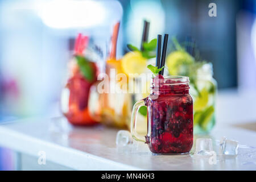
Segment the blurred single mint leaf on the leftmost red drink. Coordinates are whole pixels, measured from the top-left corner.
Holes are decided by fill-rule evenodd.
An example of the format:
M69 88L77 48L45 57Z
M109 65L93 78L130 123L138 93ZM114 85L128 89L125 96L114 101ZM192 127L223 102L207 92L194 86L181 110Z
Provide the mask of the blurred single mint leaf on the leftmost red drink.
M94 80L94 71L92 64L85 57L76 56L77 65L79 65L79 69L82 75L90 82Z

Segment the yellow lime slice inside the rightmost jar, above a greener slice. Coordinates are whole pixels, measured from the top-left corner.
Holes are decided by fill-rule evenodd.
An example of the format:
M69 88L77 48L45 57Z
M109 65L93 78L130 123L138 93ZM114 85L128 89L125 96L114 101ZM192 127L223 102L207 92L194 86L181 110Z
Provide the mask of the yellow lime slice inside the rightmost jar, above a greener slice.
M203 110L208 104L208 100L209 100L208 97L209 97L209 92L207 88L203 88L200 91L199 96L195 98L194 110L195 111Z

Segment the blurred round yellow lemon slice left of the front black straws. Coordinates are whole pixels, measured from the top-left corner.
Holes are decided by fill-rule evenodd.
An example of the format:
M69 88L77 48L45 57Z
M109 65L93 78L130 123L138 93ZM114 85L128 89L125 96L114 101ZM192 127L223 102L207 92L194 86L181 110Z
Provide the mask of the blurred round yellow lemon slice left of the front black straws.
M141 74L146 70L147 59L139 51L128 52L121 60L122 70L126 75L136 77L133 74Z

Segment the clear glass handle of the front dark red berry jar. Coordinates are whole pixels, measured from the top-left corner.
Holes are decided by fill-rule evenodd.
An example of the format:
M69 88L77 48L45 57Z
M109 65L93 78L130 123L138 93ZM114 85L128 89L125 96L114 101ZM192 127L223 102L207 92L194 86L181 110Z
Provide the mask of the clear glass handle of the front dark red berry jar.
M139 108L141 108L142 106L145 106L144 100L137 101L133 106L133 112L131 113L131 135L135 140L146 143L145 136L138 135L136 131L137 115L138 115Z

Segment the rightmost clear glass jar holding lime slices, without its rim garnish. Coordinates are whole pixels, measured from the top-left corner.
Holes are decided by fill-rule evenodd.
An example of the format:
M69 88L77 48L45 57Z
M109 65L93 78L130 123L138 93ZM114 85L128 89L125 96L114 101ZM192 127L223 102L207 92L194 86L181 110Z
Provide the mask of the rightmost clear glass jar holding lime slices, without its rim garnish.
M216 122L217 82L212 76L212 64L204 64L197 71L195 81L191 84L195 134L209 133Z

